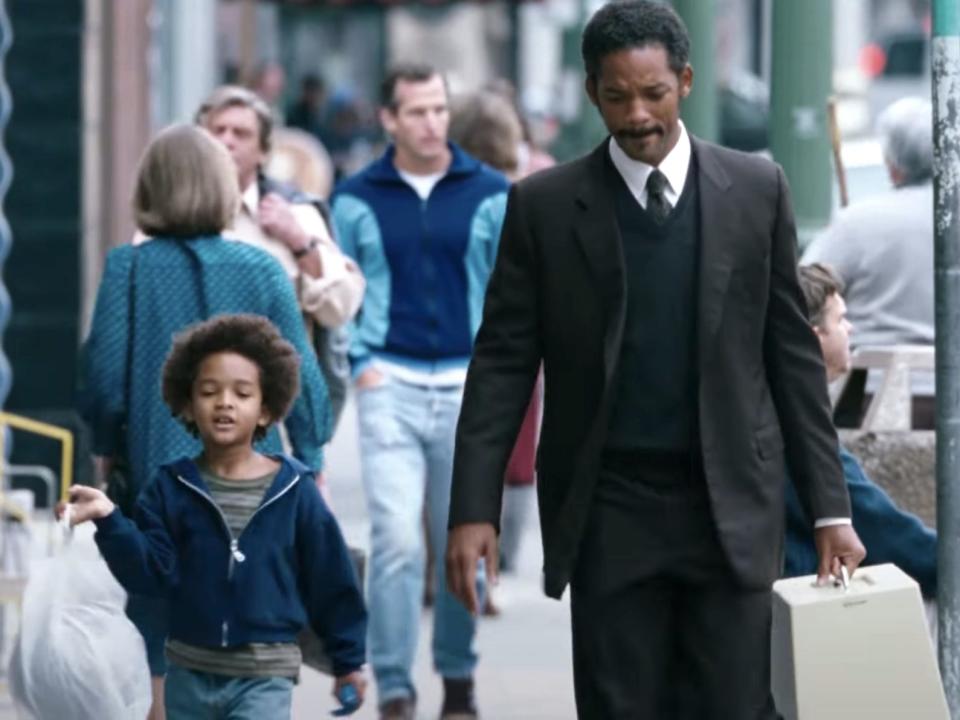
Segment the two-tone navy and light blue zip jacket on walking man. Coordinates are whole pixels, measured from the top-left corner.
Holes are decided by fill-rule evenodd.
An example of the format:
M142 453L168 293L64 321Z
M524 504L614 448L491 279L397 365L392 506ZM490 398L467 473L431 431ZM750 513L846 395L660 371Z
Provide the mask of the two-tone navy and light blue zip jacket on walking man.
M412 367L469 361L507 204L507 179L450 144L447 173L421 200L391 146L341 183L333 218L367 279L351 326L354 376L374 355Z

